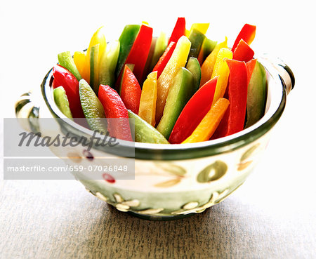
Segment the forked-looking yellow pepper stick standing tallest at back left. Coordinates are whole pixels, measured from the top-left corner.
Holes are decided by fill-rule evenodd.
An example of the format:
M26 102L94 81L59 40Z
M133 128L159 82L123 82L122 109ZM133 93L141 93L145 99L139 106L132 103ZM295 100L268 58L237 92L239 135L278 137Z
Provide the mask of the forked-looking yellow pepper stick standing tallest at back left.
M93 72L95 73L93 75L94 80L98 80L97 74L98 74L98 62L100 61L100 58L103 55L103 52L105 51L105 48L107 47L107 41L105 39L105 34L104 34L104 29L103 27L100 27L99 29L96 30L96 32L93 34L90 40L90 44L88 46L88 49L86 51L86 63L87 63L87 76L91 80L91 48L93 46L96 46L99 44L98 47L98 55L96 53L93 54L93 59L96 59L94 61L94 67L93 67ZM95 49L96 51L96 49ZM95 56L94 56L95 55ZM91 85L91 81L89 81L89 84ZM98 84L96 84L98 86ZM91 85L91 87L93 87ZM96 87L97 88L97 87ZM98 92L96 92L98 93Z

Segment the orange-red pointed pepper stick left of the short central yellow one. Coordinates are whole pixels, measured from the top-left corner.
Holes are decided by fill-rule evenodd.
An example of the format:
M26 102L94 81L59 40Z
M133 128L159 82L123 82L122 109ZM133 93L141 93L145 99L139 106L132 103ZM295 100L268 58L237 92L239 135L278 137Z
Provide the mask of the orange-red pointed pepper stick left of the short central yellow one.
M131 109L135 114L138 114L141 94L142 89L140 88L135 75L126 65L121 82L121 100L123 100L126 108Z

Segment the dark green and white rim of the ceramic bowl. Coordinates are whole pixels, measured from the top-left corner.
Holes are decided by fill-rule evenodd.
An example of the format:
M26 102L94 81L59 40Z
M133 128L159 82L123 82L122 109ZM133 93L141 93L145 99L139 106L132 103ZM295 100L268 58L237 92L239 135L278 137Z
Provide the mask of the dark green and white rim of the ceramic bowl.
M287 92L286 86L282 81L282 77L280 77L279 73L276 69L272 67L265 66L265 60L258 58L258 61L263 64L265 70L267 72L267 76L270 78L268 81L268 93L270 91L270 87L272 83L275 83L279 90L275 89L275 91L282 91L280 93L279 101L274 100L275 98L271 98L274 100L275 108L269 107L266 110L265 115L256 122L256 124L250 126L249 128L244 129L243 131L239 131L239 133L235 133L229 135L224 138L218 138L216 140L208 140L204 142L196 142L196 143L188 143L188 144L151 144L151 143L140 143L133 142L134 145L131 145L131 142L120 140L119 148L121 150L130 150L127 152L129 154L135 154L135 159L145 159L145 160L184 160L184 159L197 159L202 157L210 157L216 154L222 154L226 152L232 152L234 150L239 149L240 147L244 147L251 142L254 142L261 136L268 133L270 129L275 126L279 118L281 117L285 103L287 100ZM58 107L53 102L53 98L51 98L51 80L52 80L53 68L51 68L46 76L44 77L41 83L41 93L48 107L49 111L55 118L66 119L66 117L60 112ZM267 97L268 98L268 97ZM52 103L51 103L52 102ZM67 129L71 129L72 133L76 135L92 135L93 131L76 124L74 121L68 120L66 122ZM79 135L79 136L80 136ZM105 151L103 147L93 147L97 150ZM109 152L109 150L106 150ZM126 154L126 152L123 152ZM117 152L114 154L119 155L121 157L126 157L124 154Z

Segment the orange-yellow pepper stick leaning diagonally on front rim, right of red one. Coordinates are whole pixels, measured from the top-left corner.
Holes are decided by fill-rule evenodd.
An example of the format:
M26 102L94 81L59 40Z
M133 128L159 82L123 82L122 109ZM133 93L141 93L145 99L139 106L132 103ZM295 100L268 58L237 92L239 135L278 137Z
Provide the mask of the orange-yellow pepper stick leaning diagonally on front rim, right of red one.
M211 107L209 112L204 116L197 128L195 128L195 131L193 131L190 137L188 137L182 143L186 144L209 140L211 135L213 135L213 133L216 131L221 119L223 119L223 116L229 105L229 100L225 98L219 98L217 102Z

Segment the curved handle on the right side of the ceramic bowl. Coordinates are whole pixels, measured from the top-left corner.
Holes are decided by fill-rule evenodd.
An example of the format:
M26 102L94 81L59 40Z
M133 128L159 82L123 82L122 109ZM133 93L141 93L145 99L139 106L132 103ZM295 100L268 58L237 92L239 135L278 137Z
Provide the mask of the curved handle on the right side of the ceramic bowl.
M263 62L264 66L270 70L270 68L275 69L279 79L281 79L282 84L287 92L287 95L294 88L295 77L289 66L280 58L271 58L270 55L264 54L262 59L259 60Z

